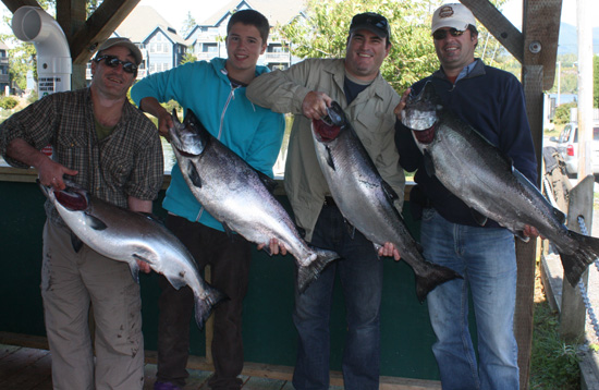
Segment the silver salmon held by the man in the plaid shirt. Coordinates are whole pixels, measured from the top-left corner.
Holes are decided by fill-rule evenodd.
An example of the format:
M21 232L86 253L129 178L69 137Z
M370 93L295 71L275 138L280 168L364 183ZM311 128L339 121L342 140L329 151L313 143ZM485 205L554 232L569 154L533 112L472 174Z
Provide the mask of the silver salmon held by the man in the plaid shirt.
M173 288L188 285L200 329L213 306L227 298L204 281L185 245L152 217L103 202L80 187L40 187L73 234L100 255L126 263L135 281L139 282L140 260L163 275Z

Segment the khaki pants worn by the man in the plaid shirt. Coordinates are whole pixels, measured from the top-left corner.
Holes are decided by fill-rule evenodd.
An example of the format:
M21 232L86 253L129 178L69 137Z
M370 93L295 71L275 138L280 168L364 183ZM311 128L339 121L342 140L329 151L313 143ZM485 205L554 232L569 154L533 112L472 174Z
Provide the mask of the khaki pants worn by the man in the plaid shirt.
M127 264L86 245L75 253L70 232L46 222L41 296L54 389L143 388L142 300ZM94 344L88 327L90 303L96 321Z

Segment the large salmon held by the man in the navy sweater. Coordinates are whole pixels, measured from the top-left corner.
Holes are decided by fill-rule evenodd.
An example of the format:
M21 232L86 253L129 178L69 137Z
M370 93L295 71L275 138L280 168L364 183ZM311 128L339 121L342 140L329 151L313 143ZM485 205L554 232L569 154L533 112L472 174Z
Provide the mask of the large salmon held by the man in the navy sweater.
M523 241L524 227L535 227L557 246L564 275L576 285L599 256L599 239L569 230L563 212L499 148L445 109L432 84L408 98L402 123L412 130L427 174L468 205L480 224L492 219Z

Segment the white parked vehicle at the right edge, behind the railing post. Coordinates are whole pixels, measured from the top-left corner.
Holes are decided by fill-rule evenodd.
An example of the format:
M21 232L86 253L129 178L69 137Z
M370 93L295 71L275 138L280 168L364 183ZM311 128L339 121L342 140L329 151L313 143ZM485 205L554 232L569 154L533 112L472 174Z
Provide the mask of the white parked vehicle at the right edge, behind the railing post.
M578 172L578 126L576 123L567 123L559 137L551 137L558 151L565 161L567 174L575 175ZM592 123L592 142L590 145L590 169L594 174L599 174L599 122ZM589 172L590 173L590 172Z

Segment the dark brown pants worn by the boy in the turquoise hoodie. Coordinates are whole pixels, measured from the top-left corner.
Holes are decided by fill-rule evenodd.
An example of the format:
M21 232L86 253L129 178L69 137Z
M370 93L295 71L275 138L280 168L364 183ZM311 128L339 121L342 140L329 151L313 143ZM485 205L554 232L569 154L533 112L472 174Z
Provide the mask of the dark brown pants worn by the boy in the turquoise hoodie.
M250 244L242 236L205 227L201 223L169 215L169 228L190 249L200 270L211 268L210 284L230 300L215 309L212 357L215 375L208 385L212 389L239 389L237 375L243 368L242 304L247 292ZM176 291L160 276L162 290L158 306L158 373L157 380L183 387L188 377L185 366L190 355L190 321L194 295L190 288Z

